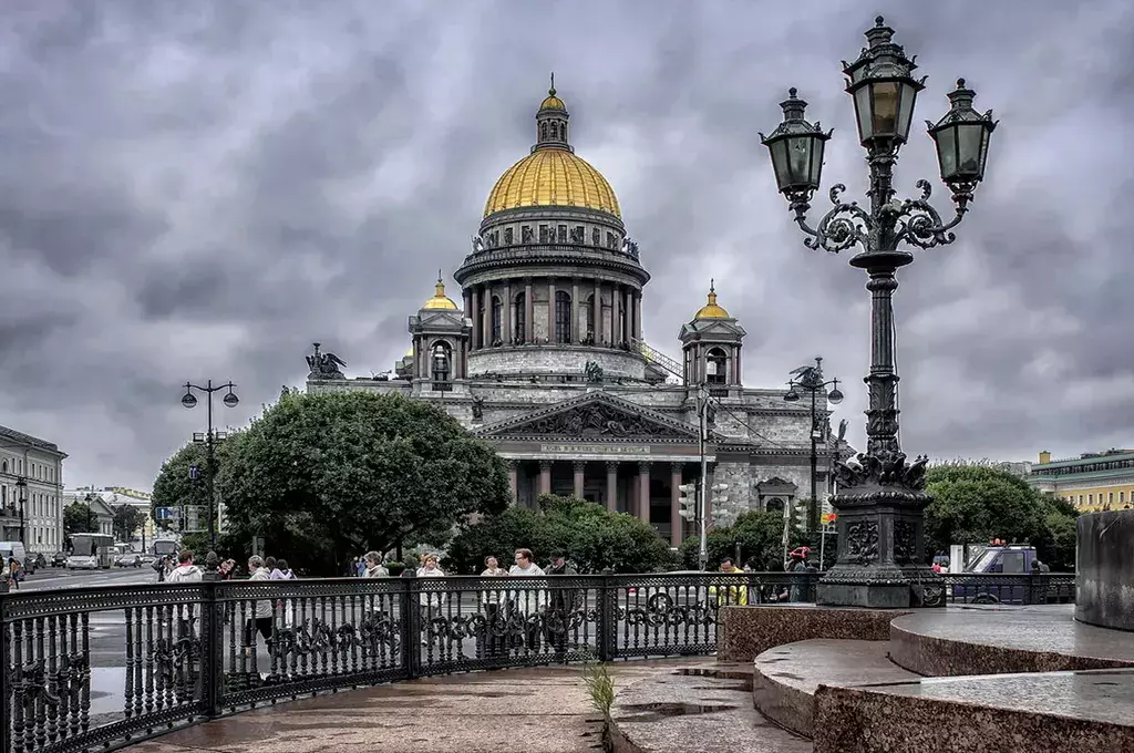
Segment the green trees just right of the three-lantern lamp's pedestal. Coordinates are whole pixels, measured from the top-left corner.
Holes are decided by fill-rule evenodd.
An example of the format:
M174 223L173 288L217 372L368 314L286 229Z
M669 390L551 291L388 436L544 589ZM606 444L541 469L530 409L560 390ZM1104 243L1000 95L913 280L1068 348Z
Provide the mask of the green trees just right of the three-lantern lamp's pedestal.
M945 463L929 468L925 551L991 539L1030 543L1052 570L1075 567L1075 517L1068 502L1030 487L987 463Z

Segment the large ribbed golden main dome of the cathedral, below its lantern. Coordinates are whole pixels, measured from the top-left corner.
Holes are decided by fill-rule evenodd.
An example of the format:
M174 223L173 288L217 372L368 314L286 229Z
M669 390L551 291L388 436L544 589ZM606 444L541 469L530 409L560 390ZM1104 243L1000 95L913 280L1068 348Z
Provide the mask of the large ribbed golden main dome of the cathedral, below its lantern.
M582 206L621 218L602 174L566 149L538 149L508 168L484 203L484 217L517 206Z

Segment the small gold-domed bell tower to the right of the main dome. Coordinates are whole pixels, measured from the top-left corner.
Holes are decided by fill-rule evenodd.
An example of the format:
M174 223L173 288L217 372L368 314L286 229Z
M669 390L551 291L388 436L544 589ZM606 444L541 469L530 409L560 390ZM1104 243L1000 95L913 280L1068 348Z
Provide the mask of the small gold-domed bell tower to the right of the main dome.
M678 336L684 355L685 383L709 386L710 390L741 387L741 348L747 332L717 303L717 285L709 281L709 295L693 321Z

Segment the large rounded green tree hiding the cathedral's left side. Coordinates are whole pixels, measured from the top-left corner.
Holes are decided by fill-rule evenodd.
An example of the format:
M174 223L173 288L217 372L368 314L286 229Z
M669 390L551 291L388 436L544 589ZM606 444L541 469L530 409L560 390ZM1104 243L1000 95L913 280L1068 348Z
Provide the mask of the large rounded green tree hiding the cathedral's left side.
M284 394L222 448L230 535L262 535L312 573L338 574L348 556L508 504L496 451L441 408L399 395Z

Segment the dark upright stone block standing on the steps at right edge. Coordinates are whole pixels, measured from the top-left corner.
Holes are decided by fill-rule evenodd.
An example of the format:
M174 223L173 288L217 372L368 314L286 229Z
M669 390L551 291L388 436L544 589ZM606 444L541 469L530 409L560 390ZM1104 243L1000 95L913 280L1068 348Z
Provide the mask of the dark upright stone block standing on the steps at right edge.
M1078 516L1075 619L1134 631L1134 510Z

